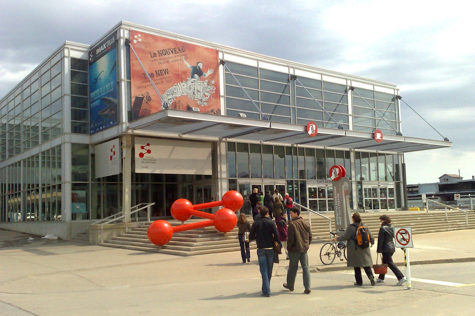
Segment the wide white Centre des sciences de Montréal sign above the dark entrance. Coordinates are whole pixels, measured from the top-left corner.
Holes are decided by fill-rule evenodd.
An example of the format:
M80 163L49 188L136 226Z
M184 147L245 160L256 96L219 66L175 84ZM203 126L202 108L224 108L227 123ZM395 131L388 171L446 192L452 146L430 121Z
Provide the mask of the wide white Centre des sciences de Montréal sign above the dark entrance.
M135 172L211 175L211 143L135 138Z

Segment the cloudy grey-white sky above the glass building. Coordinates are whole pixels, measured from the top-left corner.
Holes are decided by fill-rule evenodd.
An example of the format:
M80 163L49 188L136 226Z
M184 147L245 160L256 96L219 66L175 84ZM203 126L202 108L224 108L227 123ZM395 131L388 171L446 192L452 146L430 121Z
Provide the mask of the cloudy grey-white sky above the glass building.
M409 184L475 176L473 13L468 1L2 0L0 97L68 40L120 20L397 84L453 148L405 155ZM443 139L405 104L402 133Z

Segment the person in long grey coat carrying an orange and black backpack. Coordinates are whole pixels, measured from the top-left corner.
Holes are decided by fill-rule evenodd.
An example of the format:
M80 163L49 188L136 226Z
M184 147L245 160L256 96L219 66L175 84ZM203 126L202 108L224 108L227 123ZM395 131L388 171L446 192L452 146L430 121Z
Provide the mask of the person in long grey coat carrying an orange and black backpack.
M374 244L374 237L368 229L368 226L361 223L361 216L359 213L353 213L352 219L353 223L346 227L345 234L343 236L334 238L334 240L336 239L337 242L348 241L346 244L346 266L354 268L356 280L354 285L363 285L363 279L361 277L362 267L364 272L366 272L368 279L370 279L371 286L374 286L376 283L374 281L373 271L371 270L371 266L373 265L373 260L371 259L371 250L370 247L361 248L358 246L356 242L357 228L363 225L368 230L371 247Z

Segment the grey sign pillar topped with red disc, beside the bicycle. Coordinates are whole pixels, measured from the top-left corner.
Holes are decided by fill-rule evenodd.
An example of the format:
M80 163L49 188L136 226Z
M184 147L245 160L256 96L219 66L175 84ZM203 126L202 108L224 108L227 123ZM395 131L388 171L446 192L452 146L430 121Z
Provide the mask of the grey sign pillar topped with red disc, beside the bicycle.
M346 177L343 166L330 168L329 176L333 180L333 210L335 212L335 228L337 231L345 229L352 223L350 214L350 192L352 184ZM338 234L341 235L342 233Z

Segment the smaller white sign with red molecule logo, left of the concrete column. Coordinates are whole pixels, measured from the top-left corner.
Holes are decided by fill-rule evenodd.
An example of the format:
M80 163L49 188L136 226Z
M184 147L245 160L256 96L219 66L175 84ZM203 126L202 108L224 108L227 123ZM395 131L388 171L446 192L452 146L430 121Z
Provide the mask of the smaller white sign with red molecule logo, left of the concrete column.
M117 175L122 171L122 155L119 139L95 146L95 177Z

